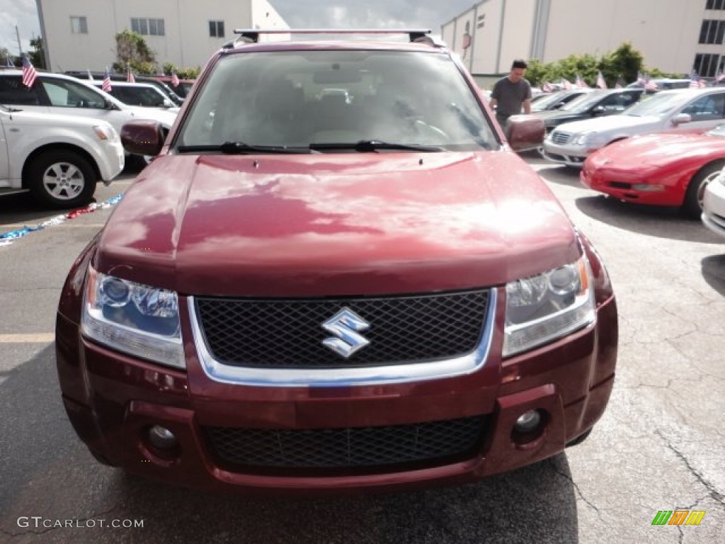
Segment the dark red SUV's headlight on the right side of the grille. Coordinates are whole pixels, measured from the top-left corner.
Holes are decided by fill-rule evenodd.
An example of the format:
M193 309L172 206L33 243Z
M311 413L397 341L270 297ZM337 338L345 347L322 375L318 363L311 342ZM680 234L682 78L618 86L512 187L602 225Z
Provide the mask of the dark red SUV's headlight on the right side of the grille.
M503 355L530 350L594 322L592 285L586 257L506 284Z

